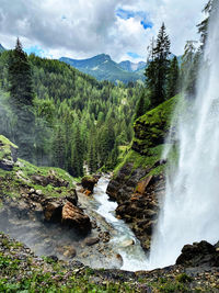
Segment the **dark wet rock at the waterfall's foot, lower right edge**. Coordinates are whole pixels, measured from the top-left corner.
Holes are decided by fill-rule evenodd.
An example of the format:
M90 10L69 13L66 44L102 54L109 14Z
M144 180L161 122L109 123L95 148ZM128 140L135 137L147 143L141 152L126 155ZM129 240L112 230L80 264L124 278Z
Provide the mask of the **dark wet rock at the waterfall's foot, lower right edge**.
M216 247L207 241L194 243L185 245L181 256L176 260L176 264L184 267L209 266L219 267L219 252Z

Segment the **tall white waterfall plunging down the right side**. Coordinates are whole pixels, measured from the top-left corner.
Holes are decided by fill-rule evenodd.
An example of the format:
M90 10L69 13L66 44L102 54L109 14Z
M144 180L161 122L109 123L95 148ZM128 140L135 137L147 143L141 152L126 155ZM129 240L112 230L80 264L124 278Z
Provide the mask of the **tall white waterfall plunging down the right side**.
M196 97L188 99L187 109L184 106L174 125L178 161L166 176L149 259L151 269L175 263L186 244L219 240L219 8L215 9Z

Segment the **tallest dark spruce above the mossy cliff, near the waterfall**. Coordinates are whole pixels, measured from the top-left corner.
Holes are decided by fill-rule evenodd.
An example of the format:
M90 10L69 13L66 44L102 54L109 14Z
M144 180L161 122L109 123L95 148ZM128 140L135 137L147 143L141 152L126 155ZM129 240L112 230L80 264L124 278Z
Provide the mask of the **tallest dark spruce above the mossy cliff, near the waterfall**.
M155 45L152 41L146 68L146 87L149 90L151 108L162 103L165 98L166 74L169 69L170 38L165 32L165 25L162 24Z

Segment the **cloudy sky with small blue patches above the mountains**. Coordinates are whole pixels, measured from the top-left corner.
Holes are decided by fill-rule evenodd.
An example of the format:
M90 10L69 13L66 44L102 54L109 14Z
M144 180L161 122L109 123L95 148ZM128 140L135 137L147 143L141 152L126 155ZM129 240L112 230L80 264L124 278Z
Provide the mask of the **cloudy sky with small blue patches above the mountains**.
M114 60L147 59L162 22L171 50L182 55L207 0L0 0L0 44L20 37L27 53L74 59L108 54Z

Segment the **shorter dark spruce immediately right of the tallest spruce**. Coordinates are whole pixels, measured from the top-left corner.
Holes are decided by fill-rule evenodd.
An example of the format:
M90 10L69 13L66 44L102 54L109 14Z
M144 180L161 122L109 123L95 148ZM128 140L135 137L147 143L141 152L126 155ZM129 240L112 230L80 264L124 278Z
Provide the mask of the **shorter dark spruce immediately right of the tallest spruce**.
M176 56L171 60L166 78L166 98L170 99L178 92L178 63Z

